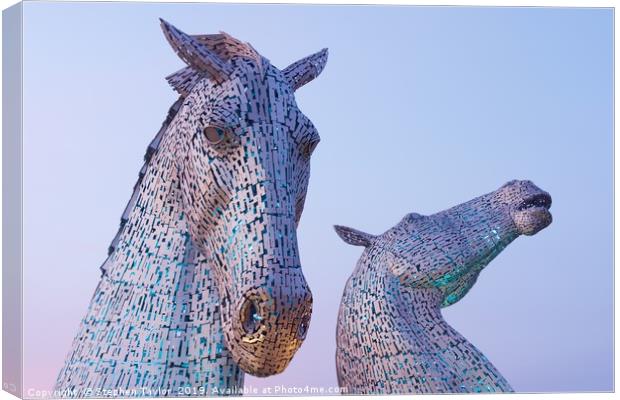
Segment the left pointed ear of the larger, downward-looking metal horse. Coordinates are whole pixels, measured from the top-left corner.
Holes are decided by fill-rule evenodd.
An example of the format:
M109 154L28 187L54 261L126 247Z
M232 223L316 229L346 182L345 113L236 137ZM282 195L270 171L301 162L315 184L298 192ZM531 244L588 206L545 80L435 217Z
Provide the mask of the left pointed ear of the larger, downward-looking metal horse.
M230 77L232 73L230 64L219 58L195 38L161 18L160 21L161 29L168 43L187 65L197 71L206 72L210 78L218 83L222 83Z

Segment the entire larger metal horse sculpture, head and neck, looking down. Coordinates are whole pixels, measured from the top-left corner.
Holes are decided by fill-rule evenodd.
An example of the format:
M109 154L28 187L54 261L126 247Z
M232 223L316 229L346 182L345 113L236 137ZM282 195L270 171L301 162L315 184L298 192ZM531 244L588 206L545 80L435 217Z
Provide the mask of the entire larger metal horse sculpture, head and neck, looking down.
M327 50L279 70L165 21L187 64L56 380L61 397L234 394L283 371L310 323L296 229L319 135L295 103Z

